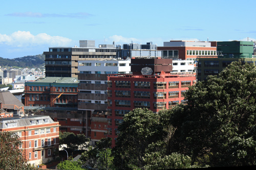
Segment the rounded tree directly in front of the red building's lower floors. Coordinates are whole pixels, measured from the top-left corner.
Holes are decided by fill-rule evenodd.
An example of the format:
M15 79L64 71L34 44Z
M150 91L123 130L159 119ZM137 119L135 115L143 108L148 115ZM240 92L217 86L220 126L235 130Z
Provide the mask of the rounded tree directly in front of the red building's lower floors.
M143 157L149 145L166 134L159 118L159 114L141 108L125 114L123 123L118 127L120 134L114 148L117 168L133 169L145 165Z

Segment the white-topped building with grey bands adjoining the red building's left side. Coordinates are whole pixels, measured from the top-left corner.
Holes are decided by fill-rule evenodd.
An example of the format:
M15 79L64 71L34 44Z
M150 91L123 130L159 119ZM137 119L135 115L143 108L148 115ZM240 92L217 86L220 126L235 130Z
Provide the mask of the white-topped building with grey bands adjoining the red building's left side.
M86 112L85 117L90 120L86 136L90 136L95 144L107 133L107 76L129 74L131 60L91 59L78 63L78 110Z

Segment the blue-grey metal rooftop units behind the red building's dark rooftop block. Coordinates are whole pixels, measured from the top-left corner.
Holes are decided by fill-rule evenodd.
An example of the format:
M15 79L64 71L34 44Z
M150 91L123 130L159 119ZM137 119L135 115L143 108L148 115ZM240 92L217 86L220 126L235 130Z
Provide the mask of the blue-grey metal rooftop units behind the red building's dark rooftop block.
M121 59L127 58L161 58L162 52L157 50L157 45L152 42L146 44L123 44L117 45L116 57Z

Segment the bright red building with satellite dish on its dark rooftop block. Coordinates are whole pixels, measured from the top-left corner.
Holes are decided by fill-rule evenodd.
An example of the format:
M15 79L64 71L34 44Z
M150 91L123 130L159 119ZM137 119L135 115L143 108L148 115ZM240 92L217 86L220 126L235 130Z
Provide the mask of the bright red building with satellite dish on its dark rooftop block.
M124 114L135 108L153 112L186 104L183 92L196 83L193 75L172 75L170 59L132 59L130 75L108 76L108 137L112 146ZM141 72L141 73L140 73Z

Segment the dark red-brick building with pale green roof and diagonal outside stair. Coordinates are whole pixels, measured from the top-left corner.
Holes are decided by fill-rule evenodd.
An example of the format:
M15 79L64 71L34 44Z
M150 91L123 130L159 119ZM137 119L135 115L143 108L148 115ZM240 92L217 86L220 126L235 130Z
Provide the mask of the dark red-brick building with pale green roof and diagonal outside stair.
M77 78L48 77L25 83L25 106L77 108Z

